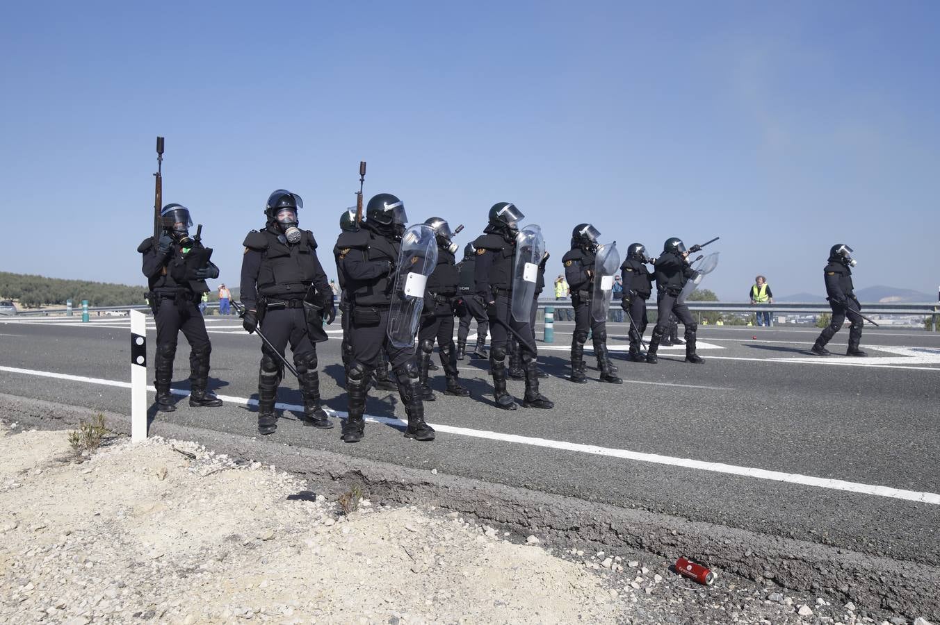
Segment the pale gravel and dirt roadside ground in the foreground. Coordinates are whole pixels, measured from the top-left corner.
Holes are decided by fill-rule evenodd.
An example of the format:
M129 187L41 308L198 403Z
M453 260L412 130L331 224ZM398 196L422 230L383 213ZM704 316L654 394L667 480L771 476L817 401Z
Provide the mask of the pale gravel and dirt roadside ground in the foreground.
M76 456L65 432L0 425L0 620L910 622L721 572L701 587L649 554L559 552L431 506L346 514L316 490L192 442Z

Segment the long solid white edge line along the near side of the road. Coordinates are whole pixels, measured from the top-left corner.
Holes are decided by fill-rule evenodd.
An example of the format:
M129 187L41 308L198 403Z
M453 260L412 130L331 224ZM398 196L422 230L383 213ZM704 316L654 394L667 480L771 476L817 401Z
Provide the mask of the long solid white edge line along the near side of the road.
M128 389L131 387L129 382L120 382L118 380L103 380L101 378L85 377L82 375L69 375L67 373L54 373L45 371L34 371L31 369L19 369L16 367L0 366L0 371L8 373L23 373L26 375L38 375L41 377L52 377L75 382L85 382L87 384L101 384L110 387L119 387ZM150 392L155 392L149 387ZM188 395L185 390L172 389L175 395ZM230 404L258 404L257 400L244 397L233 397L230 395L218 395L223 402ZM304 406L297 404L276 404L282 410L303 410ZM326 411L339 419L346 419L347 413L326 408ZM388 417L373 417L368 415L366 420L373 423L385 423L388 425L407 426L403 419L391 419ZM724 473L728 475L737 475L744 478L756 478L758 480L783 481L791 484L801 484L804 486L816 486L818 488L827 488L830 490L846 491L860 495L877 495L891 497L894 499L904 499L907 501L916 501L918 503L932 504L940 506L940 495L936 493L923 493L919 491L907 491L890 486L878 486L873 484L862 484L854 481L829 480L827 478L816 478L813 476L800 475L798 473L785 473L782 471L769 471L766 469L753 468L748 466L727 465L724 463L710 463L701 460L692 460L691 458L676 458L673 456L664 456L658 453L644 453L641 451L617 450L609 447L599 447L596 445L583 445L580 443L569 443L566 441L551 440L548 438L538 438L533 436L522 436L519 434L503 434L500 432L491 432L489 430L473 430L453 425L443 425L432 423L432 427L438 432L446 434L459 434L472 438L483 438L488 440L499 440L507 443L516 443L519 445L528 445L532 447L541 447L552 450L576 451L588 453L591 455L608 456L611 458L620 458L622 460L632 460L641 463L652 463L655 465L681 466L683 468L699 469L702 471L712 471L714 473Z

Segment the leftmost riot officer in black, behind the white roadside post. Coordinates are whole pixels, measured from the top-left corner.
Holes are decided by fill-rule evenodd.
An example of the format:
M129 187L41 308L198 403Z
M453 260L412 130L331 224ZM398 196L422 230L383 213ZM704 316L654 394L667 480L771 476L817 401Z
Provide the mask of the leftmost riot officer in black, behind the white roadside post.
M206 391L212 345L198 303L209 292L206 279L219 277L219 267L209 260L211 250L189 236L193 225L189 209L168 204L160 212L159 238L148 237L137 247L143 254L144 275L150 292L148 300L157 324L157 350L154 358L156 406L162 412L176 410L170 383L180 330L189 342L190 395L192 406L218 406L222 400Z

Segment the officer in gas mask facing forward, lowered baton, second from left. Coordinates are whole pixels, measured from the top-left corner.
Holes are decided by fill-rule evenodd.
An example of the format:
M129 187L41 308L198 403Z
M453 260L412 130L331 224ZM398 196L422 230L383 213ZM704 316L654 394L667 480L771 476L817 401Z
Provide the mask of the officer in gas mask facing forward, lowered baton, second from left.
M260 231L244 238L241 298L242 325L254 332L258 325L276 354L261 347L258 370L258 433L277 429L274 398L284 377L281 358L290 343L294 366L304 397L305 425L322 430L333 427L320 403L320 373L315 343L326 341L322 321L333 323L333 289L317 258L317 241L298 225L304 201L297 193L278 189L264 207L267 221Z

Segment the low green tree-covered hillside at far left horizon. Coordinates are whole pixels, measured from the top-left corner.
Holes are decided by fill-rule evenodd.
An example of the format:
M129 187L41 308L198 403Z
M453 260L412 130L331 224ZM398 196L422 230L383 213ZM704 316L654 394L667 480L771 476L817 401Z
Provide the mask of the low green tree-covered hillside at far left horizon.
M65 306L67 299L76 306L83 299L88 300L89 306L131 306L145 303L147 290L146 286L62 280L0 271L0 299L18 300L24 308Z

